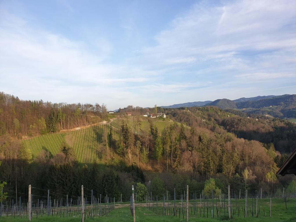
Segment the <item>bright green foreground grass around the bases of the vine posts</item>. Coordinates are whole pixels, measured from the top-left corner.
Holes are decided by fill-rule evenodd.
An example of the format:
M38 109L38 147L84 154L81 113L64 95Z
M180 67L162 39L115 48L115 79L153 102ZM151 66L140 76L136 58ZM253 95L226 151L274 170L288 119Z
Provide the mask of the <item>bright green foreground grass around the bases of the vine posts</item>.
M250 206L250 202L252 202L252 199L248 199L248 203ZM258 205L261 208L266 208L265 211L266 214L265 216L263 215L263 210L261 209L261 213L258 217L255 217L255 215L252 217L251 214L249 214L249 216L247 218L244 218L243 215L240 215L239 217L237 217L237 215L234 215L234 217L230 220L230 221L242 221L242 222L247 222L247 221L254 221L254 222L295 222L296 221L296 199L290 199L289 202L287 202L287 207L288 210L286 210L285 205L283 200L281 199L272 199L272 216L269 217L269 199L262 199L262 200L258 200ZM146 204L146 203L145 203ZM144 205L145 205L144 204ZM241 200L240 202L238 201L238 204L243 205L244 204L244 200ZM159 202L159 207L161 208L161 202ZM142 204L143 206L143 204ZM174 216L170 216L170 215L156 215L155 213L153 213L152 211L148 210L146 207L139 207L136 205L136 221L137 222L154 222L154 221L163 221L163 222L167 222L167 221L178 221L178 222L183 222L186 221L186 217L184 215L184 219L183 219L183 215L177 215L177 217ZM205 218L200 217L200 215L191 215L191 213L189 213L189 221L196 221L196 222L201 222L201 221L221 221L222 217L224 213L221 213L221 216L219 218L216 217L216 215L214 216L214 218L210 218L211 214L209 212L208 214L208 218L205 215ZM226 213L227 215L227 213ZM227 216L226 216L227 218ZM19 221L19 222L25 222L28 221L27 218L14 218L12 216L4 216L0 219L0 221L3 222L8 222L8 221ZM38 217L38 220L36 218L33 218L32 221L81 221L80 217L69 217L69 218L59 218L56 216L43 216L43 217ZM115 210L112 210L108 215L103 216L103 217L96 217L96 218L86 218L85 221L104 221L104 222L116 222L116 221L121 221L121 222L130 222L133 221L133 217L131 216L131 211L129 209L129 207L119 207L116 208ZM229 221L228 219L226 219L226 221Z

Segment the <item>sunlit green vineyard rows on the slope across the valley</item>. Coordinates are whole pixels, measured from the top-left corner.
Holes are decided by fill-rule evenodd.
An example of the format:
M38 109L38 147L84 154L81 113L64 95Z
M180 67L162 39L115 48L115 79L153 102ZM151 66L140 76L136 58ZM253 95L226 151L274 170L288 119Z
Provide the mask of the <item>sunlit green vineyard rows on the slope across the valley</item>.
M151 120L157 127L158 133L161 134L163 129L170 126L171 121L168 120ZM136 134L147 134L150 131L150 123L147 118L133 120L132 118L118 118L111 124L96 125L89 128L78 129L67 133L55 133L38 136L32 139L25 139L23 143L26 148L30 149L33 158L36 158L42 151L48 151L51 155L60 152L63 142L73 147L75 158L80 163L93 163L95 160L99 162L106 150L107 136L112 127L112 138L120 139L120 125L126 122L131 131Z

